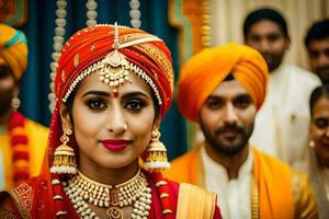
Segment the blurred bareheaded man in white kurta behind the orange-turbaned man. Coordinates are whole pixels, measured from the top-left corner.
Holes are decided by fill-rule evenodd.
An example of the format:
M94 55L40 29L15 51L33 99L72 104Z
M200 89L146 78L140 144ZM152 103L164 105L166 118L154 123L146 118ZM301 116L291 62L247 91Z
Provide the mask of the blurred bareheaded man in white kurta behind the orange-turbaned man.
M256 118L250 141L292 166L307 166L308 100L320 84L313 73L285 62L291 46L287 24L273 9L249 13L243 23L245 43L264 57L270 76L264 104Z

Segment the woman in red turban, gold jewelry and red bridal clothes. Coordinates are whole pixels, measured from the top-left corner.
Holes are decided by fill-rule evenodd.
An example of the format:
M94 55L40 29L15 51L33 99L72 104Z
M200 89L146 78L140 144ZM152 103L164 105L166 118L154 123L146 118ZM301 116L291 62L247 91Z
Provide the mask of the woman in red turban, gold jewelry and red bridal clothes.
M16 218L220 218L216 196L162 177L159 126L173 93L164 43L90 26L66 43L41 174L0 194Z

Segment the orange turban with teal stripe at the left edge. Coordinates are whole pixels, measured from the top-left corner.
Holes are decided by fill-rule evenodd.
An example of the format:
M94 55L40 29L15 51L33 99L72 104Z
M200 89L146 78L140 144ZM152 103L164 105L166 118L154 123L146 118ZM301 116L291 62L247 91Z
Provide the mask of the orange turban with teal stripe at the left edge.
M27 66L27 45L23 32L0 24L0 65L9 65L16 80Z

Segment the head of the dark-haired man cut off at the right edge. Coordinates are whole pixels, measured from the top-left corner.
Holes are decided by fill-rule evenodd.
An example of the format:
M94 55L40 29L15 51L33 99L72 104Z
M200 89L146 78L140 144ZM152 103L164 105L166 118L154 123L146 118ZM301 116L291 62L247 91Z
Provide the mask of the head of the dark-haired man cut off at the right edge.
M314 23L305 37L309 66L324 84L329 83L329 19Z

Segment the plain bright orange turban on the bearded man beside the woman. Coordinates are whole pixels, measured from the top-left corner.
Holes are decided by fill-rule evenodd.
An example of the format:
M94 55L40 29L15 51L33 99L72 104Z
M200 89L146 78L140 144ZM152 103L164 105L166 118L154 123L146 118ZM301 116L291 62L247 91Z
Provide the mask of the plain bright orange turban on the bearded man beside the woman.
M266 62L256 49L230 43L204 49L184 65L178 82L183 116L197 122L201 106L229 73L246 88L259 110L266 92Z

